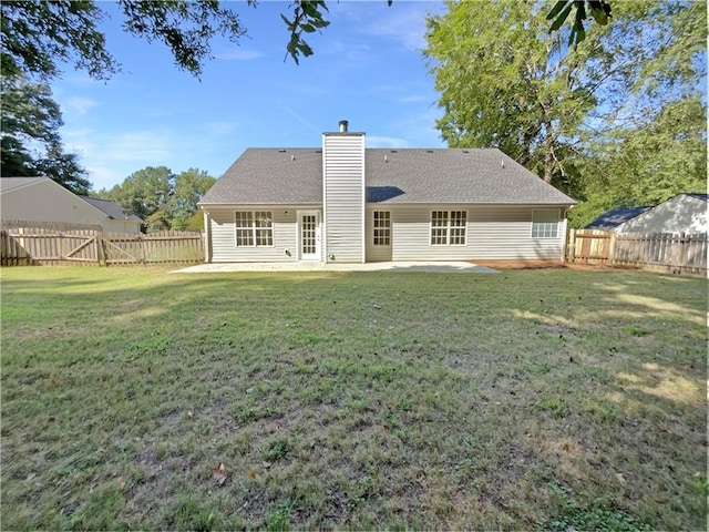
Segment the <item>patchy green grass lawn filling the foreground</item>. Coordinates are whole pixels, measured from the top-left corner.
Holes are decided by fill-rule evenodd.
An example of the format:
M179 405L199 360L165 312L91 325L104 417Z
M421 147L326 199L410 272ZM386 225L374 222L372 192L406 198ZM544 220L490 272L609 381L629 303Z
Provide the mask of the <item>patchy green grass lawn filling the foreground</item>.
M0 279L2 530L706 530L706 279Z

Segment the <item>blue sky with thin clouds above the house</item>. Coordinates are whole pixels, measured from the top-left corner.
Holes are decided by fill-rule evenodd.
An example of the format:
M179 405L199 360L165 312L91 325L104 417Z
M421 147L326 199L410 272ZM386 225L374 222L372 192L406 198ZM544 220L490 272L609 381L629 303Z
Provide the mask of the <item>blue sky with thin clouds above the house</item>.
M114 3L100 6L122 72L94 81L68 65L51 85L64 147L96 192L146 166L219 177L247 147L319 146L340 120L364 132L368 147L444 147L421 52L425 17L443 12L441 1L331 0L331 23L308 34L315 54L299 65L284 61L289 2L232 1L248 34L214 41L201 79L179 70L164 44L124 33Z

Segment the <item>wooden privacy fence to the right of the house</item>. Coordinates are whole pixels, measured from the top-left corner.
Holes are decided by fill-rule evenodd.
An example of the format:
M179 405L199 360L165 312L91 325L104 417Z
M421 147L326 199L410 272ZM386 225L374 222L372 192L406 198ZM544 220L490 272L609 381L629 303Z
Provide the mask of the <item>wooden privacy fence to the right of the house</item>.
M569 229L569 263L631 266L675 274L707 275L707 234L627 234Z

